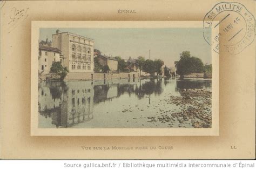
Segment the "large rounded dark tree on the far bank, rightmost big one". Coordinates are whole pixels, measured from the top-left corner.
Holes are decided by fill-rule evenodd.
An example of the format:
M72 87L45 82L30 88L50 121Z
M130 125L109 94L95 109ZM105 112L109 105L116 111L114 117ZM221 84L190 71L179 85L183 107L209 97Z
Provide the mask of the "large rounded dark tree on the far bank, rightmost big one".
M174 64L177 68L176 72L181 78L183 78L185 74L204 72L204 64L201 59L191 57L189 51L183 51L180 53L180 60L178 62L174 62Z

